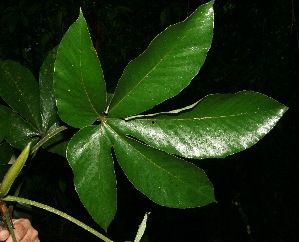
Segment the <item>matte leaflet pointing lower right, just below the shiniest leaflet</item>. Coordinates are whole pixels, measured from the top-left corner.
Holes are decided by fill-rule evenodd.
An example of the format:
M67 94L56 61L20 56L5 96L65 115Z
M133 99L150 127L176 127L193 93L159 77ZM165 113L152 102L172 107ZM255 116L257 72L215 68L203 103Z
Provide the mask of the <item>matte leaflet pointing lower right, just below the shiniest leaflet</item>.
M157 204L191 208L215 202L213 185L192 163L123 136L114 136L117 160L136 189Z

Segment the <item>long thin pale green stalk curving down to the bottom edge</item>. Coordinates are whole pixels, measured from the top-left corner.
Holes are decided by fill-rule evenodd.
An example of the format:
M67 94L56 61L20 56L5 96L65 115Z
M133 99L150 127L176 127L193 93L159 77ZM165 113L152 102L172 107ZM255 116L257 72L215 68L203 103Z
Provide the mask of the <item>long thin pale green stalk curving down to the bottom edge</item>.
M3 201L9 201L9 202L18 202L18 203L24 203L24 204L29 204L44 210L47 210L51 213L55 213L56 215L59 215L75 224L77 224L78 226L80 226L81 228L87 230L88 232L92 233L93 235L97 236L98 238L102 239L105 242L112 242L112 240L110 240L109 238L107 238L106 236L104 236L103 234L99 233L98 231L94 230L93 228L89 227L88 225L82 223L81 221L75 219L74 217L61 212L58 209L52 208L48 205L39 203L39 202L35 202L26 198L21 198L21 197L15 197L15 196L6 196L5 198L2 198Z

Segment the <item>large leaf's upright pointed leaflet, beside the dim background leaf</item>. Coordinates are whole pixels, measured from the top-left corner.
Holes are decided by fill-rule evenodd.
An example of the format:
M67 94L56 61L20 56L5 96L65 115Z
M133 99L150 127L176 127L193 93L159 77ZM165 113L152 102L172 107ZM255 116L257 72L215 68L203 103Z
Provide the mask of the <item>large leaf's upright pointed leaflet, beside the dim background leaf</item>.
M81 128L104 112L106 85L82 12L59 45L54 70L54 89L59 116Z

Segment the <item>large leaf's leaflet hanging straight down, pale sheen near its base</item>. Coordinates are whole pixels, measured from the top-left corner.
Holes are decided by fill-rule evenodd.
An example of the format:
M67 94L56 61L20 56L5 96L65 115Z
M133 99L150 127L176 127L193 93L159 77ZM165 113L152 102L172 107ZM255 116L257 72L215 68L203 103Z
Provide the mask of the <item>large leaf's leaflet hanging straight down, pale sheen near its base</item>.
M69 142L67 159L82 203L107 230L116 213L116 178L105 129L87 126L77 132Z

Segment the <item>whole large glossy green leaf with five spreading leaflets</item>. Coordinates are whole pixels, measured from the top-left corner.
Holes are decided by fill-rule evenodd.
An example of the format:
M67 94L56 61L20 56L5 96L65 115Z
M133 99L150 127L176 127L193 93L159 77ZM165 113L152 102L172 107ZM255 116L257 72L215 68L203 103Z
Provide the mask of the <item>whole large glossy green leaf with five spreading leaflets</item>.
M54 89L60 116L81 128L68 144L67 158L81 201L104 229L116 212L112 149L127 178L152 201L203 206L215 201L212 184L203 170L174 155L202 159L244 150L287 109L245 91L210 95L182 110L136 115L177 95L197 74L211 45L212 5L166 29L130 62L106 110L102 71L82 13L63 37ZM99 124L91 126L95 120Z

